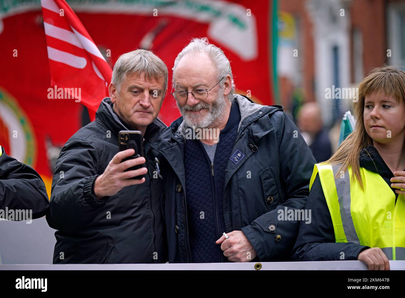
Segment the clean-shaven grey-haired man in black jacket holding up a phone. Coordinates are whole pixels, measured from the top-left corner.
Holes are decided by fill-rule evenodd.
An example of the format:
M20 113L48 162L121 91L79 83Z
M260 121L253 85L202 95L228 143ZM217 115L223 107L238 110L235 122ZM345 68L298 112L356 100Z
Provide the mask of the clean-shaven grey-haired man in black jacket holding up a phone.
M47 214L49 226L58 230L53 263L166 262L162 180L153 178L149 151L166 127L157 116L167 77L166 65L151 51L120 56L96 120L62 148ZM123 161L134 150L118 152L122 130L142 132L145 158ZM143 167L126 171L136 165Z

